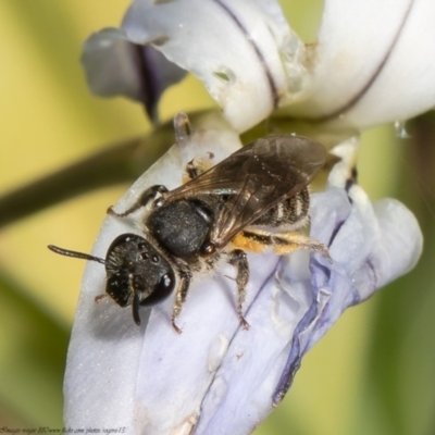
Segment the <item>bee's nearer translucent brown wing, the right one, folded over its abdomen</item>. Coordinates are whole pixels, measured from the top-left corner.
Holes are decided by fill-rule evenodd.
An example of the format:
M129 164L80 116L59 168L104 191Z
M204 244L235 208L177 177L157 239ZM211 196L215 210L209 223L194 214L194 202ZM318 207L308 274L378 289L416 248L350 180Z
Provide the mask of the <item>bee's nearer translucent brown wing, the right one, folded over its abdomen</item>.
M210 241L225 246L269 209L302 190L322 169L325 148L302 136L276 135L254 141L239 169L241 185L212 228Z

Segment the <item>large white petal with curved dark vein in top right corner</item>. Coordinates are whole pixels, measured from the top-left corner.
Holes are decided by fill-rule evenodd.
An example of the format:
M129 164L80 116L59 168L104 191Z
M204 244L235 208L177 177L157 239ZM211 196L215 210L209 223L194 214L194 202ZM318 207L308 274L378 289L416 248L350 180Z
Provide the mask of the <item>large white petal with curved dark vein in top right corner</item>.
M364 128L435 105L432 0L327 0L306 101L290 114Z

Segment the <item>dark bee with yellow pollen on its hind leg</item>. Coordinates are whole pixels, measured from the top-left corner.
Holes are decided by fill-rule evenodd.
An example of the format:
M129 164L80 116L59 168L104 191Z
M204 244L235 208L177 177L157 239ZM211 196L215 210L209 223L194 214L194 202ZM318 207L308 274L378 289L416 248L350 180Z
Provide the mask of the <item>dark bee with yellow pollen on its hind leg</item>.
M210 270L223 257L236 268L237 313L243 314L249 264L246 250L272 247L277 254L297 249L322 252L327 248L296 229L309 223L308 184L325 163L324 147L306 137L274 135L256 140L215 166L204 170L194 159L186 184L167 190L146 189L120 219L139 208L149 210L142 236L122 234L105 259L49 246L54 252L97 261L105 266L105 291L121 307L153 306L175 289L172 325L186 300L192 274Z

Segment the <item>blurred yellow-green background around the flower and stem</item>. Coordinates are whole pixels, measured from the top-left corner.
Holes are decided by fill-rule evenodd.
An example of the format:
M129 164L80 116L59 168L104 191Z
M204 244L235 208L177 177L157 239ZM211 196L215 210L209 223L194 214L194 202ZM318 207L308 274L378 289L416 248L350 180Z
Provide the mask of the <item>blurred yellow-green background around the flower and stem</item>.
M150 130L142 109L92 97L78 58L84 39L116 26L127 0L0 2L0 195L107 144ZM313 41L322 2L286 2L294 28ZM160 105L214 107L189 76ZM435 433L434 114L363 134L360 183L396 197L419 217L419 265L348 310L304 358L284 402L256 434ZM58 186L62 188L62 186ZM62 377L83 262L54 261L50 243L91 249L109 204L127 185L100 189L17 221L0 233L0 427L62 427ZM1 212L1 211L0 211Z

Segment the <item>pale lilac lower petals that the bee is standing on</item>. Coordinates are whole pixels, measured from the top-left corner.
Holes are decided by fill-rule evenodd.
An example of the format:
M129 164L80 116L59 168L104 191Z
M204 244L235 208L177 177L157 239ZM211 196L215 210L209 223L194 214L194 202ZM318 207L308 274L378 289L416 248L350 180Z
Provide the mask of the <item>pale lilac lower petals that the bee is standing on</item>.
M199 130L145 174L116 204L124 210L156 183L179 184L181 167L208 151L216 161L239 146L231 132ZM353 144L345 146L349 152ZM343 151L343 150L341 150ZM171 326L172 300L152 309L137 327L129 309L109 298L104 270L88 264L65 375L65 424L124 427L126 434L248 434L281 400L304 352L349 306L407 272L421 252L419 225L402 204L373 204L346 184L346 159L334 183L312 197L311 236L331 246L334 263L316 253L249 256L246 302L251 328L240 328L229 265L192 286ZM109 216L94 254L104 257L124 232L140 234L139 215ZM142 320L147 311L141 310ZM148 311L149 313L149 311ZM142 322L147 323L147 322Z

